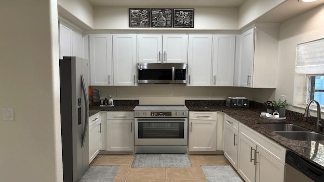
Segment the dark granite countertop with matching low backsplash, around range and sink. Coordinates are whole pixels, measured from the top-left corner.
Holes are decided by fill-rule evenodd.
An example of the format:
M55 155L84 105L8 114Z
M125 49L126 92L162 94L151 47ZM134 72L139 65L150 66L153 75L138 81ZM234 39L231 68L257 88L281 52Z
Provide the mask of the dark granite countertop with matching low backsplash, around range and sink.
M113 107L99 107L90 106L89 115L92 116L99 111L133 111L137 103L121 103L121 105L116 105ZM221 111L229 115L230 117L236 119L237 121L249 126L255 131L263 134L268 139L274 141L287 150L294 152L295 154L301 156L307 161L315 164L316 166L324 169L324 141L296 141L290 140L281 136L271 130L265 129L258 123L291 123L298 126L304 127L306 129L324 134L323 131L318 131L315 129L315 124L313 122L314 117L310 119L305 118L300 113L295 113L287 110L287 119L284 120L273 120L261 118L260 113L264 112L262 104L250 102L249 108L230 108L226 107L224 101L205 101L200 103L199 101L186 101L185 105L189 111Z

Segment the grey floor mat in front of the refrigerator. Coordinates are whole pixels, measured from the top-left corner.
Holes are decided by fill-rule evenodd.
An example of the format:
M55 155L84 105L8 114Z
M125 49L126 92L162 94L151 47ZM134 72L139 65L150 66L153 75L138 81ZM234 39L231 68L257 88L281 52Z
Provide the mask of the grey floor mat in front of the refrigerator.
M79 182L110 182L116 176L119 166L91 166Z

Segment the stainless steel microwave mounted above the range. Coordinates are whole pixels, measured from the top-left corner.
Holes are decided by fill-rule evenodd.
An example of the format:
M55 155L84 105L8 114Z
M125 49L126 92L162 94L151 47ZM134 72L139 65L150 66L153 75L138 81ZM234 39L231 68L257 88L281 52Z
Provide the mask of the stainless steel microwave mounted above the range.
M187 83L187 63L137 63L138 83Z

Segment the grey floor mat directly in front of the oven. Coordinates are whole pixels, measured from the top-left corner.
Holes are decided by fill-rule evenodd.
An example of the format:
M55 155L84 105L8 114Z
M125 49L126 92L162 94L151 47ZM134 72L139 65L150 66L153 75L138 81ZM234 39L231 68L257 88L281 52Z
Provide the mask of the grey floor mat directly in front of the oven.
M132 167L191 167L187 154L135 154Z

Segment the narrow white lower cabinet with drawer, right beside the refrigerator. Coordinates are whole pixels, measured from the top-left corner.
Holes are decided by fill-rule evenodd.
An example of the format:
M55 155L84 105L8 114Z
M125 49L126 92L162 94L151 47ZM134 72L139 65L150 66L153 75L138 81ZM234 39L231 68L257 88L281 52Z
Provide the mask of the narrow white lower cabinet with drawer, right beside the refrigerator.
M89 117L89 163L99 154L101 121L99 113Z

